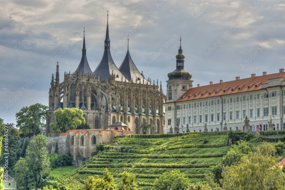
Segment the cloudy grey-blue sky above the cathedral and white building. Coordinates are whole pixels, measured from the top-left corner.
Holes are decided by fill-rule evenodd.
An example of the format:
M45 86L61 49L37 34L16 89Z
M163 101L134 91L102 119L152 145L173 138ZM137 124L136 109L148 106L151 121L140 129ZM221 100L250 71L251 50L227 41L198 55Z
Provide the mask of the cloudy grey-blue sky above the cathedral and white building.
M129 51L144 77L162 81L176 69L180 46L193 87L285 68L285 3L280 0L2 0L0 1L0 118L16 123L21 108L48 105L59 64L74 72L82 55L96 69L109 10L112 58Z

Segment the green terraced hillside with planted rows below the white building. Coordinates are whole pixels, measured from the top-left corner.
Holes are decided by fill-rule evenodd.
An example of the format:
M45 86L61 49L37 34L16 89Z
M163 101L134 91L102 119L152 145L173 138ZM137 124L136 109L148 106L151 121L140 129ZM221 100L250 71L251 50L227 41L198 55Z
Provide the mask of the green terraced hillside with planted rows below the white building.
M155 178L172 169L185 173L190 182L203 180L209 166L221 162L230 149L225 132L200 132L192 134L131 135L118 138L99 155L88 160L81 167L75 179L82 181L89 175L103 177L105 167L120 184L121 173L127 171L136 175L136 182L142 189L151 189Z

